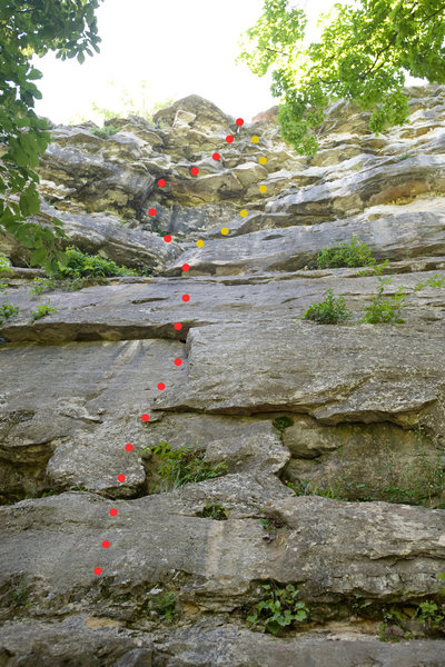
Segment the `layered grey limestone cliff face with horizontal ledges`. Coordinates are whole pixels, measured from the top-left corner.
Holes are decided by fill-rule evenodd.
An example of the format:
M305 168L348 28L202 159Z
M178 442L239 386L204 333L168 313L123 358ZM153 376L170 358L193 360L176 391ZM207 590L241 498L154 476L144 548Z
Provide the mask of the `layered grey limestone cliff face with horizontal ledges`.
M0 237L0 667L444 667L445 87L407 94L314 158L197 96L52 128L30 220L139 275L32 295ZM382 276L314 268L353 237ZM349 319L304 319L329 289Z

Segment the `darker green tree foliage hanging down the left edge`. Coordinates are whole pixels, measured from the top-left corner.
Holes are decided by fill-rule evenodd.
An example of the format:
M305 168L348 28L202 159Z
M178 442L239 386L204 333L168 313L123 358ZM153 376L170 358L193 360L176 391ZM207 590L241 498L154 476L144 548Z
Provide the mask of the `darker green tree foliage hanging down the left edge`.
M50 141L48 123L33 111L41 93L33 83L42 73L30 63L33 54L56 51L66 60L99 52L95 9L101 0L2 0L0 3L0 231L7 229L32 249L31 265L56 266L53 230L24 222L40 209L32 170ZM16 197L11 197L14 196Z

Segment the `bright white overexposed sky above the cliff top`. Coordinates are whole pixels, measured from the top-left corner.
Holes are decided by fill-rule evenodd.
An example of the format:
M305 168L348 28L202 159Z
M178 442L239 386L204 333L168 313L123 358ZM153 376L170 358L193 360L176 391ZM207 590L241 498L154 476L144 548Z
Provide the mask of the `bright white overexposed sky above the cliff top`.
M336 0L295 0L307 12L307 37L316 41L316 20ZM235 64L240 33L254 26L263 0L105 0L96 11L100 53L57 60L33 58L43 73L36 112L56 123L80 117L101 125L91 103L118 110L122 90L141 102L145 81L149 107L168 98L200 94L222 111L249 121L277 103L269 79ZM110 86L115 81L115 87Z

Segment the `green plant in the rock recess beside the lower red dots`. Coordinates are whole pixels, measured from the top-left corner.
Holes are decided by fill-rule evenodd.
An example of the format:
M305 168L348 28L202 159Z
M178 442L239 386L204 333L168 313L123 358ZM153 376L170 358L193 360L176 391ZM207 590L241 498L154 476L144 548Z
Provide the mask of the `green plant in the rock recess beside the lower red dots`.
M167 491L191 481L212 479L227 471L227 465L224 461L219 464L206 461L204 454L194 452L189 447L172 449L170 445L162 441L142 451L150 451L161 459L161 465L157 470L161 479L160 490Z

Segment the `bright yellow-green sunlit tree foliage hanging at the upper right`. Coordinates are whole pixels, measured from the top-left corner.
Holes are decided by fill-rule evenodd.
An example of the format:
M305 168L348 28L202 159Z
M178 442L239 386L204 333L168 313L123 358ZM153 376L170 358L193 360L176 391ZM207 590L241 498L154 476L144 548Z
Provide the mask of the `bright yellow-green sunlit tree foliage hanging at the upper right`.
M305 13L288 4L265 0L238 60L259 77L271 71L283 137L299 153L317 151L314 132L335 99L354 100L372 111L369 129L378 133L408 116L406 73L445 83L443 0L337 3L323 17L320 41L307 48Z

